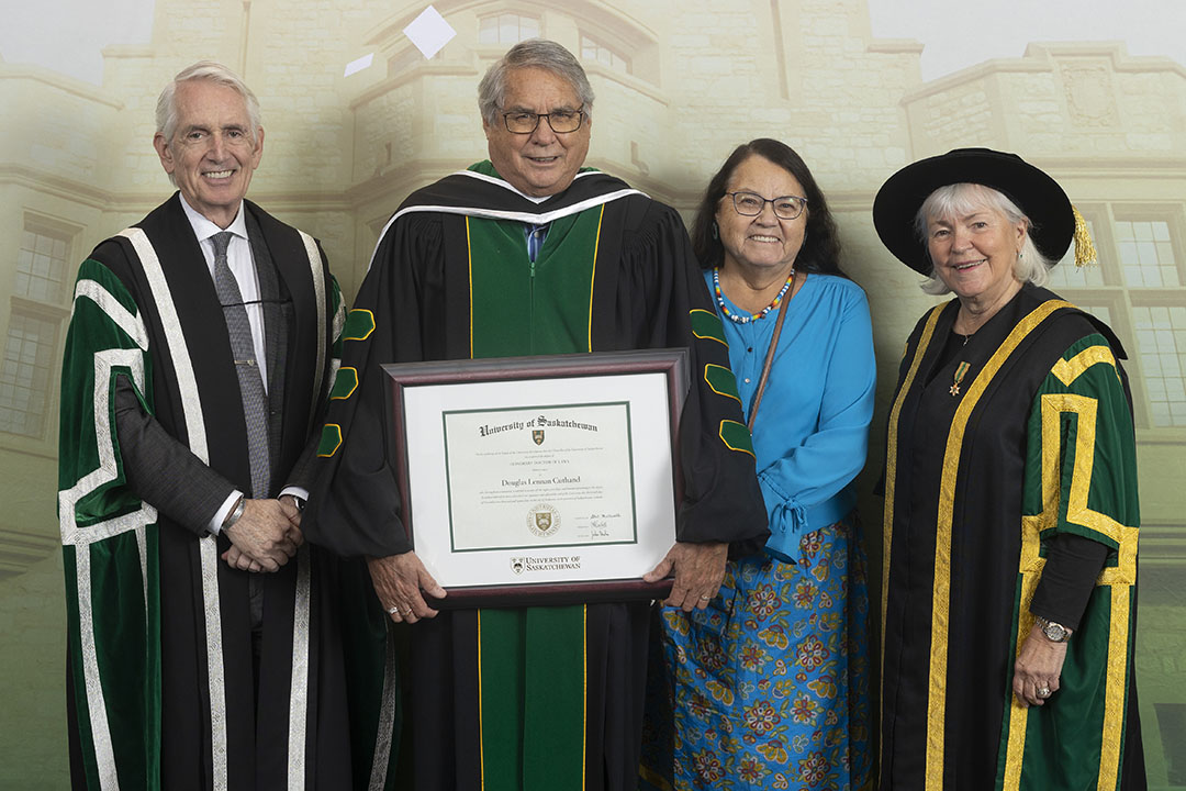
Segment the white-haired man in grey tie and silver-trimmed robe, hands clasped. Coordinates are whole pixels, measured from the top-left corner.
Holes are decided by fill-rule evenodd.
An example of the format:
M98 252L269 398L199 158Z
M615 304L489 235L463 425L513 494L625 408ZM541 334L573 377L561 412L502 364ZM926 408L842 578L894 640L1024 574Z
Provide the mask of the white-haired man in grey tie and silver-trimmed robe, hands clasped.
M203 62L160 107L179 192L82 264L65 349L74 785L347 787L344 580L299 530L337 285L311 236L243 199L250 90Z

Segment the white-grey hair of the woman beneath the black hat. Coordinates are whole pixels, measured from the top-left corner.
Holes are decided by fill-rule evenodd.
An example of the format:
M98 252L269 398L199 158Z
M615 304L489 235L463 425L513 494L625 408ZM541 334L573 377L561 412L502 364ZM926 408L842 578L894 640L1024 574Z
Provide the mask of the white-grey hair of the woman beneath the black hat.
M1029 232L1033 230L1033 223L1029 221L1029 217L1018 208L1018 204L1009 200L1005 193L983 184L967 181L948 184L940 186L923 202L923 205L918 209L918 213L914 215L914 231L923 240L923 245L927 249L927 257L930 257L930 248L927 245L926 224L931 219L939 217L963 217L983 209L1005 215L1009 224L1025 223L1026 238L1021 243L1020 255L1013 263L1013 276L1022 283L1045 286L1050 275L1050 268L1056 262L1050 261L1038 251L1033 235ZM951 292L936 274L933 261L931 262L930 279L923 283L922 288L927 294L936 296Z

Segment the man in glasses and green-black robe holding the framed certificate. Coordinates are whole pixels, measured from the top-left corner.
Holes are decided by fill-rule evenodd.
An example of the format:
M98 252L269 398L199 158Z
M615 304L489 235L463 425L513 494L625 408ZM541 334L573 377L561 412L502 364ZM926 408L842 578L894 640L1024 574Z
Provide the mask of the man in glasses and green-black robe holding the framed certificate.
M479 85L490 160L404 202L381 235L343 332L342 368L319 448L325 468L304 525L314 543L366 556L391 620L414 624L406 636L412 674L406 722L420 791L635 787L649 607L646 601L547 606L551 602L543 599L541 606L451 608L438 617L425 594L441 599L446 592L412 551L406 528L415 509L401 497L400 467L415 478L417 466L442 463L396 448L397 417L381 365L687 347L690 387L678 394L682 497L675 541L644 579L674 573L669 604L703 608L731 547L755 551L767 536L722 328L687 232L672 209L581 168L592 103L585 71L551 42L523 42L491 66ZM611 497L624 484L561 467L633 447L627 425L653 422L637 416L643 406L627 403L629 394L591 394L595 407L574 404L579 398L563 394L503 403L496 390L490 385L490 403L482 409L444 407L434 423L442 415L444 429L433 429L452 432L449 442L489 436L503 457L522 454L515 457L524 460L522 476L470 486L482 498L484 518L528 503L523 524L534 536L528 541L544 542L570 527L584 530L574 541L585 544L625 535L620 517L631 500ZM512 408L528 403L563 408ZM588 439L594 430L598 441ZM524 438L524 448L511 442L512 433ZM569 442L565 448L555 445L562 436ZM468 454L464 470L486 474L489 458L474 442L448 445L457 447ZM459 451L446 452L454 454L449 470L458 470ZM451 493L471 483L464 474L448 480ZM533 486L569 495L581 489L607 505L568 511L547 497L514 493ZM466 524L471 531L455 529L454 544L491 543ZM414 536L423 527L414 525ZM415 546L422 547L419 540ZM540 563L523 551L508 568L529 573L535 563L555 570L572 564L573 553Z

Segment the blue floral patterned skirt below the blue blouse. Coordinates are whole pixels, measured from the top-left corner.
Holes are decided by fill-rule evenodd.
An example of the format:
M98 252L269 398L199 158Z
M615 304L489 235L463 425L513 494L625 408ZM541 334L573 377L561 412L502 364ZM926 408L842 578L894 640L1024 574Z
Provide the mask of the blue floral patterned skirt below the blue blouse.
M650 707L644 787L871 784L868 582L855 521L799 546L797 564L729 561L707 610L662 610L674 712L656 721ZM669 738L658 733L672 725Z

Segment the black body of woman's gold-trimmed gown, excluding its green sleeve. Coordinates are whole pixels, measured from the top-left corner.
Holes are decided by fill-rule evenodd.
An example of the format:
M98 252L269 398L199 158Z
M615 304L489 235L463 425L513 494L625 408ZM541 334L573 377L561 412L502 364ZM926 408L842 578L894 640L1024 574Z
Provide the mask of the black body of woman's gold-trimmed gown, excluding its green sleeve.
M1024 607L1022 499L1041 452L1029 425L1035 394L1080 338L1099 333L1123 357L1107 325L1025 286L957 358L944 361L958 307L952 300L914 327L890 416L879 783L886 791L988 790L1007 774ZM1127 378L1118 364L1116 370L1124 398ZM1130 428L1130 412L1124 414ZM950 491L943 480L951 481ZM1092 662L1101 666L1102 659ZM1120 787L1140 789L1144 770L1131 672L1121 697L1126 732L1109 738L1127 740ZM1056 745L1045 747L1048 760L1060 759ZM1077 760L1098 765L1099 755ZM1024 779L1021 787L1033 786Z

